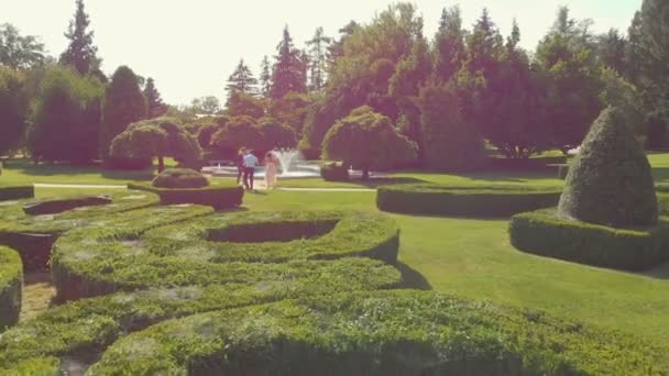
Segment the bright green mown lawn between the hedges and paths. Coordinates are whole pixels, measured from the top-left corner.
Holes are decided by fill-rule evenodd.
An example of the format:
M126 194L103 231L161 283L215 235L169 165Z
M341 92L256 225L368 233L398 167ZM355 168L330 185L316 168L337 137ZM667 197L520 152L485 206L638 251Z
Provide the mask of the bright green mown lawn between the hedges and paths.
M650 155L658 183L669 183L669 154ZM92 169L61 166L37 168L19 165L6 170L2 180L66 184L120 184L122 178ZM48 175L47 172L53 174ZM80 172L80 173L79 173ZM560 186L548 174L441 175L397 173L393 179L458 185L531 184ZM320 179L282 181L283 186L366 187L362 184L326 184ZM37 196L100 193L105 190L37 189ZM249 193L249 210L376 210L374 192L271 191ZM669 343L669 264L654 277L597 269L541 258L514 250L508 243L506 220L475 220L393 215L402 228L402 266L416 286L461 297L547 310L589 323L638 333Z

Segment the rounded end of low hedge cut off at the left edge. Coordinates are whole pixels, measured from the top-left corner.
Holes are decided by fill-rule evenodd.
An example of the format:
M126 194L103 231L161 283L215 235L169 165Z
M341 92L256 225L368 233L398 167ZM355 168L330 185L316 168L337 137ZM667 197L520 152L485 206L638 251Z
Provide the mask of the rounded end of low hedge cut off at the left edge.
M23 265L19 254L0 246L0 332L19 322Z

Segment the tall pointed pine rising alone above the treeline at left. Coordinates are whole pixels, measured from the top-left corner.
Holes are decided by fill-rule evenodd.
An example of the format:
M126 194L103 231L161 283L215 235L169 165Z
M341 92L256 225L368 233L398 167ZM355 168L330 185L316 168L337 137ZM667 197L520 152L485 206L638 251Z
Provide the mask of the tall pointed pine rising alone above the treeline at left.
M92 44L94 32L88 31L88 26L90 19L84 10L84 0L77 0L77 11L65 33L69 45L61 55L61 64L73 66L81 75L101 75L98 47Z

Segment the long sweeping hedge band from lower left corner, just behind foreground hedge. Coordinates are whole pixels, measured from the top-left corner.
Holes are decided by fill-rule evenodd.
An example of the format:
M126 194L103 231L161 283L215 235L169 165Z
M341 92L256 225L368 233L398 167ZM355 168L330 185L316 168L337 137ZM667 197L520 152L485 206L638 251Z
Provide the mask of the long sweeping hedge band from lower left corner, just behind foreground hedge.
M308 267L301 265L308 264ZM317 266L317 267L312 267ZM306 296L395 288L395 268L365 258L241 269L224 285L119 292L58 306L0 338L0 374L57 374L63 357L86 363L125 333L199 312Z

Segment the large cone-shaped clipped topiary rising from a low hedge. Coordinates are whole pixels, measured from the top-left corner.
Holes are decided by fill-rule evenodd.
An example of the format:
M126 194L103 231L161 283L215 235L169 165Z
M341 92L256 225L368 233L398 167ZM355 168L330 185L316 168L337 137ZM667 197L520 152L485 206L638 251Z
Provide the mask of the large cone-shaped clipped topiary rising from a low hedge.
M614 228L657 223L650 164L625 117L604 110L572 163L560 198L560 215Z

